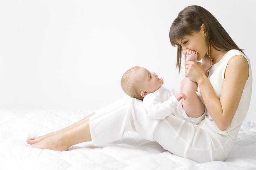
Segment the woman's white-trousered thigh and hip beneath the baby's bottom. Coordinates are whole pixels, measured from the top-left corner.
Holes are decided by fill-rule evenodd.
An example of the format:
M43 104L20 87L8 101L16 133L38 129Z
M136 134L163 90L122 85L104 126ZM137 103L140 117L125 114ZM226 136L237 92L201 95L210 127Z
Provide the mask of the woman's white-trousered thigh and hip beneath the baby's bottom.
M160 120L154 140L177 156L196 162L224 161L233 141L213 132L204 121L193 125L173 115Z

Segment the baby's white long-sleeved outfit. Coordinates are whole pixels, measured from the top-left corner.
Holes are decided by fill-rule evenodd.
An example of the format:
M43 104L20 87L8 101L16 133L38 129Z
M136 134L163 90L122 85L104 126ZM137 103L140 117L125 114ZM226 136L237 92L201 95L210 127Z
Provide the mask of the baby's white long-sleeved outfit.
M188 117L188 115L182 111L182 100L178 101L175 97L176 94L178 94L177 91L165 88L163 85L153 93L147 94L143 98L143 106L147 110L148 116L154 119L165 119L170 114L173 114L194 125L198 124L205 114L198 118Z

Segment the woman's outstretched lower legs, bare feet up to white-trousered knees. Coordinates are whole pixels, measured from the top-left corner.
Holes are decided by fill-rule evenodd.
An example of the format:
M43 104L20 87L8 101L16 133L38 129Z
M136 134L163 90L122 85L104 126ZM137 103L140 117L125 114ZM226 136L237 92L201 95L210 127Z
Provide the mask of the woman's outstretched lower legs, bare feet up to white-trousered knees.
M153 133L158 122L147 116L141 100L126 95L31 147L62 151L90 140L95 146L104 145L122 139L125 131L139 132L145 139L154 141Z

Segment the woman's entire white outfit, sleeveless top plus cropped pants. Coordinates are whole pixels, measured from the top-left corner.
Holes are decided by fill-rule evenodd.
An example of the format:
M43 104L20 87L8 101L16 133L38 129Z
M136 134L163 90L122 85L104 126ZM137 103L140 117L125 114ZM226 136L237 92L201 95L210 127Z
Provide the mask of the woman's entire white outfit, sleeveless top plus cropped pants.
M126 95L95 110L95 116L89 118L93 144L98 146L111 143L122 139L125 131L133 131L138 132L145 139L158 142L170 153L196 162L224 161L233 147L238 130L249 109L252 88L250 60L242 52L230 50L210 68L208 77L220 98L225 68L229 59L236 55L242 55L247 59L249 77L235 116L226 130L218 129L207 110L206 116L197 125L172 114L161 120L151 118L141 100ZM199 88L198 95L201 95ZM181 112L184 113L184 110L182 109Z

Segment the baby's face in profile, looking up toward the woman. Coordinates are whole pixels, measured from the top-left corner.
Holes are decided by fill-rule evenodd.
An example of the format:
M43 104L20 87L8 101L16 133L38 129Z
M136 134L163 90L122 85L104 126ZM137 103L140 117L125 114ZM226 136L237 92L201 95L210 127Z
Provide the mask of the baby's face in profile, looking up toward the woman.
M137 70L137 80L139 80L140 86L144 92L141 95L144 97L148 93L153 93L159 89L162 85L162 81L158 78L155 72L149 72L146 68L141 67Z

